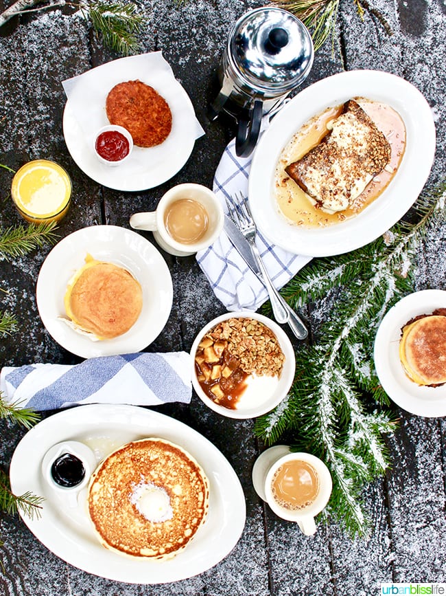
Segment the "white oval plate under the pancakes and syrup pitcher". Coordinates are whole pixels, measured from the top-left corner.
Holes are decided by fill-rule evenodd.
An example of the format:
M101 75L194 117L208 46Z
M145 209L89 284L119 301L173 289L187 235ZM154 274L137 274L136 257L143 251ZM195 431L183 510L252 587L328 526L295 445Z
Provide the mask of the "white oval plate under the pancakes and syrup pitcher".
M100 544L86 513L87 492L70 507L41 472L43 457L55 443L82 441L98 461L128 441L161 437L183 447L202 465L209 479L209 513L187 548L156 561L119 555ZM69 564L101 577L131 584L163 584L198 575L220 562L244 529L242 486L222 453L201 434L168 416L137 408L95 404L64 410L38 423L17 445L10 466L15 494L44 496L42 516L23 521L47 549Z

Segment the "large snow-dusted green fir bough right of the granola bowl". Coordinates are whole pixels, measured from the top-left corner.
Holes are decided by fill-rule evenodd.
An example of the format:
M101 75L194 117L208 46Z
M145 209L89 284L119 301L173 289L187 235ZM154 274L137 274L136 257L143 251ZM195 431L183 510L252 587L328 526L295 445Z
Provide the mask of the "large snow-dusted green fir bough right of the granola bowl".
M364 485L384 474L383 435L395 430L388 396L373 364L379 323L414 290L416 252L427 234L444 225L446 186L421 195L417 223L398 223L359 250L312 261L283 288L293 307L331 296L313 346L296 353L296 377L287 398L259 418L256 434L268 445L285 439L294 450L320 457L331 472L333 493L325 517L352 534L364 534Z

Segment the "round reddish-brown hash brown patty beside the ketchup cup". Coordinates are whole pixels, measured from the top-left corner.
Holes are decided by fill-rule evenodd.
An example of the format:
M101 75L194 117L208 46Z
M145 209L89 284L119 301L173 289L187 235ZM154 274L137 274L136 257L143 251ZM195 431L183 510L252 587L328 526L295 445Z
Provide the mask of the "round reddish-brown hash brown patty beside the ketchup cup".
M106 98L110 124L124 126L139 147L153 147L172 130L172 112L161 95L140 80L120 82Z

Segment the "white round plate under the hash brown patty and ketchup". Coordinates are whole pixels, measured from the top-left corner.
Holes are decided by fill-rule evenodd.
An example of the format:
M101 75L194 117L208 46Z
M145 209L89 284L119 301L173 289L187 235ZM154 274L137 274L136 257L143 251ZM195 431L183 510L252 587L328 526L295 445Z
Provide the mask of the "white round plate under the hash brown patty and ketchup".
M158 80L148 72L141 73L139 80L154 87L169 104L172 131L158 146L134 146L125 164L110 168L100 163L93 149L95 133L109 124L105 112L106 96L115 84L129 80L128 64L127 58L121 58L113 61L113 71L110 71L110 63L95 68L95 85L102 86L102 95L93 95L93 104L85 107L83 114L87 121L82 126L68 100L62 126L70 155L82 172L108 188L140 191L163 184L183 168L200 133L193 105L180 83L173 76Z

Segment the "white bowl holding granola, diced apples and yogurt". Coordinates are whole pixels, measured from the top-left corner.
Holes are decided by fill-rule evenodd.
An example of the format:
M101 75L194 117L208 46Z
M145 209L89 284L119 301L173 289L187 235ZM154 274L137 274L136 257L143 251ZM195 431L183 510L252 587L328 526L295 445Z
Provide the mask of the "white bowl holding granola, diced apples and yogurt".
M271 377L265 377L265 390L262 392L262 377L257 377L257 403L253 405L252 400L249 399L246 400L246 405L244 405L244 400L242 398L240 399L239 407L234 410L231 408L226 408L225 406L220 406L220 404L217 404L215 401L210 399L206 395L206 393L204 393L200 386L200 383L198 382L195 368L195 355L198 349L198 344L200 344L200 341L202 340L203 336L206 335L206 333L208 333L208 331L210 331L218 323L231 318L251 318L262 322L277 337L277 340L279 340L279 344L281 346L281 350L285 355L285 362L283 363L281 376L277 384L275 384L274 387L272 387L270 384ZM218 412L218 414L221 414L222 416L226 416L228 418L255 418L257 416L266 414L266 412L270 412L270 410L272 410L278 404L280 404L282 399L286 397L288 390L290 390L290 387L292 385L294 373L296 370L296 358L294 355L294 349L285 331L283 331L283 329L281 329L281 327L279 327L277 323L275 323L268 317L255 313L253 311L229 312L211 320L203 327L200 333L198 333L198 335L196 336L196 339L194 340L191 347L190 356L192 386L196 391L198 397L200 397L204 404L211 408L211 410L214 410L214 412Z

